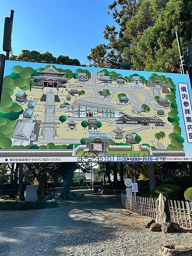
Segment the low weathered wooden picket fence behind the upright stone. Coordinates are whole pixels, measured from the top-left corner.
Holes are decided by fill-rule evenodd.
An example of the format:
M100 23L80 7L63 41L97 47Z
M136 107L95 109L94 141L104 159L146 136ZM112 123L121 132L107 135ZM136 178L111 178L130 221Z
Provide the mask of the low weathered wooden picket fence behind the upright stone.
M127 196L121 193L122 207L131 212L155 218L156 199L140 196ZM181 227L192 229L192 202L169 200L171 221L178 223Z

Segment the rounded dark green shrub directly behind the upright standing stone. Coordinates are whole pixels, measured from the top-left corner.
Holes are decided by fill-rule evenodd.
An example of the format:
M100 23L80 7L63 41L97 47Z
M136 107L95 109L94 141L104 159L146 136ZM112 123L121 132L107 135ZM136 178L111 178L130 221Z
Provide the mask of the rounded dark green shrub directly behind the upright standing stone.
M164 184L157 186L151 191L151 198L158 198L159 194L164 195L167 199L180 200L183 198L183 191L179 186Z

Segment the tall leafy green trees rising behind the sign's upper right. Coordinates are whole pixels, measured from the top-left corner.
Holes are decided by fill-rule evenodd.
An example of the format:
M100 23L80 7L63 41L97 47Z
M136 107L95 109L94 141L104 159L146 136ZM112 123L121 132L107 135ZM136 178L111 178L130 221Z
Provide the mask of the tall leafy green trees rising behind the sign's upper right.
M191 44L191 9L189 0L114 0L108 13L115 25L105 26L107 43L92 48L88 60L97 67L180 73L175 30L185 50Z

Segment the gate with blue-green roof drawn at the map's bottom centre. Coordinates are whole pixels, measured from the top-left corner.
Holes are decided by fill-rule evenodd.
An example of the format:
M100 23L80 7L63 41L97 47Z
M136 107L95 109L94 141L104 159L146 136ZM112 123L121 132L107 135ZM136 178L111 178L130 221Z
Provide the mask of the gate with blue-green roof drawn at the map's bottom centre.
M84 138L86 146L90 151L108 151L109 142L112 140L108 138L104 133L91 133L88 138Z

